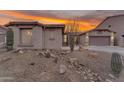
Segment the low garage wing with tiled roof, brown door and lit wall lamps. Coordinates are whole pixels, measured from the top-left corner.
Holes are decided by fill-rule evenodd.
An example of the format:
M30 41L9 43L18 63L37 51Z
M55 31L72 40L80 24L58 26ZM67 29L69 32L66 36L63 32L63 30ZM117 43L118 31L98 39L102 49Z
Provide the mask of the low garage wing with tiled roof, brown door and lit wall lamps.
M113 46L115 32L108 29L94 29L80 34L80 45Z

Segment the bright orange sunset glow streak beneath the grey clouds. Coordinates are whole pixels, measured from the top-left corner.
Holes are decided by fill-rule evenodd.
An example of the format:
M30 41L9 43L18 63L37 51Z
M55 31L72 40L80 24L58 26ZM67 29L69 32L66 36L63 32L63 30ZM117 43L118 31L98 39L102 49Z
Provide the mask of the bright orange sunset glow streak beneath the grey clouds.
M33 15L27 15L27 14L23 14L23 13L19 13L19 12L15 12L15 11L7 11L7 10L0 10L0 14L6 14L12 17L15 17L17 19L23 19L23 20L36 20L39 21L41 23L54 23L54 24L67 24L68 22L70 22L70 20L66 20L66 19L56 19L56 18L48 18L48 17L42 17L42 16L33 16ZM3 19L1 19L3 20ZM1 21L3 24L5 24L5 22L8 22L7 20ZM5 18L4 18L5 20ZM8 19L9 20L9 19ZM93 23L94 22L94 23ZM92 20L92 22L90 21L79 21L79 26L80 26L80 30L81 31L86 31L86 30L90 30L95 28L100 21L99 20Z

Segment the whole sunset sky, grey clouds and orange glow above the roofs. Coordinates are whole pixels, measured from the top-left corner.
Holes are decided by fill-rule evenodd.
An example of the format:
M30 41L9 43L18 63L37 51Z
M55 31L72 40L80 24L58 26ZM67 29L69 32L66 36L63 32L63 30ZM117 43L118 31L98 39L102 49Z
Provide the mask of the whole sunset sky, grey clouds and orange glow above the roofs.
M106 17L124 14L119 10L0 10L0 25L10 21L38 21L44 24L67 24L78 20L81 31L95 28Z

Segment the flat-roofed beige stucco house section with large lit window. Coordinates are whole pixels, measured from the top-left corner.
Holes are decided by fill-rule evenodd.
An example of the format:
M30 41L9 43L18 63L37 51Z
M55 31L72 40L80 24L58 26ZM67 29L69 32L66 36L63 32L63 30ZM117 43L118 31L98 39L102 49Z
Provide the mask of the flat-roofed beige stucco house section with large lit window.
M6 26L14 32L14 48L61 49L63 46L63 24L10 22Z

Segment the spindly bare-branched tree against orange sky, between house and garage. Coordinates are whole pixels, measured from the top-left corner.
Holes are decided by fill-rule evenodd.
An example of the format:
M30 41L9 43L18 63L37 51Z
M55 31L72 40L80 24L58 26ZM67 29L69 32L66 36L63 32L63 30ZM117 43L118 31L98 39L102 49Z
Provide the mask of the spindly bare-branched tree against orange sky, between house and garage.
M75 41L74 41L74 32L79 31L79 23L77 20L72 20L68 24L66 24L65 32L69 33L69 45L70 50L74 50Z

